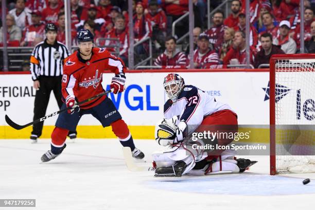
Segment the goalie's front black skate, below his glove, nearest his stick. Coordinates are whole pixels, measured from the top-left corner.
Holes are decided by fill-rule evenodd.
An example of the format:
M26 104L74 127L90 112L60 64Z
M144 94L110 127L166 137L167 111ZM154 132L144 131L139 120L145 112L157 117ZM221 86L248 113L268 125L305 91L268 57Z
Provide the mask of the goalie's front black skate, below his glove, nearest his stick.
M154 177L181 177L186 166L184 161L176 161L172 166L156 168Z

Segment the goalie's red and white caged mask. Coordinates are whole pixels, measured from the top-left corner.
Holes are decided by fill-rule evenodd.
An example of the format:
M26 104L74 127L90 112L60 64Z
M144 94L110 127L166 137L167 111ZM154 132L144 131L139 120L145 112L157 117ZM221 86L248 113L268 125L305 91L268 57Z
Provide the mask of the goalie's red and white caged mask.
M185 86L185 82L178 74L171 73L164 78L163 86L168 97L176 102L178 95Z

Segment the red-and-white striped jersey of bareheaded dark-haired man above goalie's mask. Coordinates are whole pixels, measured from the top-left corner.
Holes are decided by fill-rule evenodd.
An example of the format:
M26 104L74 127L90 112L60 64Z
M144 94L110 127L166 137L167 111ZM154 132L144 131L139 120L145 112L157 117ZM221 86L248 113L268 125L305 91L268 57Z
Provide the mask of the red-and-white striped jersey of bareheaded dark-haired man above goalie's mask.
M166 50L163 54L161 54L158 58L155 59L154 65L156 66L167 66L170 68L172 66L183 66L186 68L187 57L186 55L177 49L171 58L169 58L166 54Z

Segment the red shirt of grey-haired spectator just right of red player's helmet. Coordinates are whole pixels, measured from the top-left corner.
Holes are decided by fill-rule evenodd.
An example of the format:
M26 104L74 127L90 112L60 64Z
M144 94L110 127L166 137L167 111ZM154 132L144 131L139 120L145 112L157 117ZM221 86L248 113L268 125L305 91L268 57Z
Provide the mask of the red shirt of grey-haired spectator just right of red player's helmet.
M118 39L120 43L119 56L128 56L128 44L129 44L129 36L128 30L125 29L121 33L117 33L116 29L113 28L109 32L106 33L105 38ZM106 40L104 43L100 43L101 45L115 45L116 41ZM114 52L114 47L106 48L110 52Z

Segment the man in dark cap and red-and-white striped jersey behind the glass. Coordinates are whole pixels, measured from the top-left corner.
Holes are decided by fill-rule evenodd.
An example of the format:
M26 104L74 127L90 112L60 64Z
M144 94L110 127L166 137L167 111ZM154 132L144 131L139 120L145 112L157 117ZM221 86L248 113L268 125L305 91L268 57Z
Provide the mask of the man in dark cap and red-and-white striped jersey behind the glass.
M219 55L212 49L209 36L206 33L199 35L197 44L198 48L194 51L195 68L211 68L212 65L219 64Z

